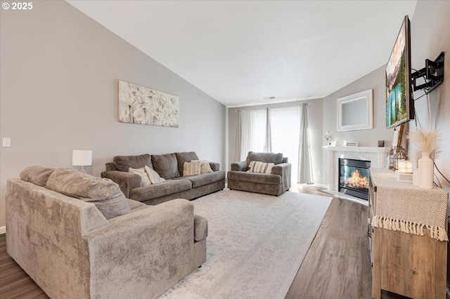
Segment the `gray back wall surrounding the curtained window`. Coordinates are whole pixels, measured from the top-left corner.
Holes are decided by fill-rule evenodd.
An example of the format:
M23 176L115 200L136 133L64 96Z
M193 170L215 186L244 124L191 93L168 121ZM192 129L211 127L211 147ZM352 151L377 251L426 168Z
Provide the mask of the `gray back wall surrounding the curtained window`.
M229 115L229 163L227 164L227 168L230 168L232 162L235 162L234 158L234 147L236 145L236 126L238 124L238 114L236 110L257 110L257 109L266 109L266 107L278 108L278 107L290 107L295 105L302 105L304 102L309 102L311 105L308 107L308 121L309 121L309 141L311 142L311 160L313 165L313 176L314 183L321 184L323 175L318 175L317 171L322 171L322 100L303 100L303 101L295 101L295 102L283 102L272 105L257 105L257 106L245 106L245 107L234 107L228 109ZM287 130L289 128L286 128ZM245 157L243 158L245 159Z

